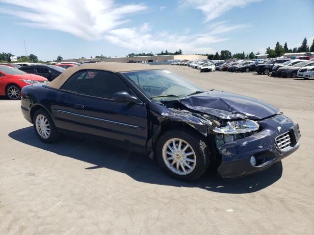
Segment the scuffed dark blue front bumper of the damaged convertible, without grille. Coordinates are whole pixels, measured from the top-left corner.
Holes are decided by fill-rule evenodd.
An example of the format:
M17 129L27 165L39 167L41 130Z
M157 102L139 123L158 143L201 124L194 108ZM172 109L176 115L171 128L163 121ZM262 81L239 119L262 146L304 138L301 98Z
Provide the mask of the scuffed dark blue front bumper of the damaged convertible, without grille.
M226 143L219 148L222 162L218 168L218 174L222 178L238 178L262 171L298 149L299 142L293 138L291 138L290 146L283 150L280 150L275 143L276 137L292 132L290 129L295 124L291 119L278 115L258 123L262 131L238 141ZM255 166L250 163L252 156L258 162Z

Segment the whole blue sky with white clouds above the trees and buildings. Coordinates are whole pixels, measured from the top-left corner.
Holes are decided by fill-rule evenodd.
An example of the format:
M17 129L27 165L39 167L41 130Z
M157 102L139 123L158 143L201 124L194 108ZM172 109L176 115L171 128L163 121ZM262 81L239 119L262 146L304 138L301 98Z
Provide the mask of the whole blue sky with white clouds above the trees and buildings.
M0 0L0 51L41 60L265 52L314 38L314 0Z

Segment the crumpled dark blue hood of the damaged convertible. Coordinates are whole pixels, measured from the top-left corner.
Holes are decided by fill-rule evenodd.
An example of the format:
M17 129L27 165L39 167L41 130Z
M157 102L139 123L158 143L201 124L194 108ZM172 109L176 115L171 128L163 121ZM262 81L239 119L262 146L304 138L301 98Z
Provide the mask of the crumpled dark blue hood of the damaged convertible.
M222 119L267 118L279 112L274 106L248 96L209 91L178 100L185 107Z

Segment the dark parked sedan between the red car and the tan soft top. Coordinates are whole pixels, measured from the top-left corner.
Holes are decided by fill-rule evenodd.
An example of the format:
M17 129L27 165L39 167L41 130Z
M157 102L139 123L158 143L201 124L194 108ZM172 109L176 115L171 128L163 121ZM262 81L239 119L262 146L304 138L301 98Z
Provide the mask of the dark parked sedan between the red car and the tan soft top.
M20 70L46 77L48 81L52 81L65 69L55 65L29 65L20 68Z

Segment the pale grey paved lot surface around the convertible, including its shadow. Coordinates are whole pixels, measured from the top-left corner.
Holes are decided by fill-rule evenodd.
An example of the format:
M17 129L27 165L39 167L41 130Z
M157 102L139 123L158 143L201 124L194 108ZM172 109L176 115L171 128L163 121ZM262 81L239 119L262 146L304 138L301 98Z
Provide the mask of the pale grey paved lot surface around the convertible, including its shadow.
M1 235L314 234L314 81L159 67L203 89L275 105L299 123L299 150L245 178L221 180L209 171L183 183L148 157L103 143L45 144L20 101L1 97Z

